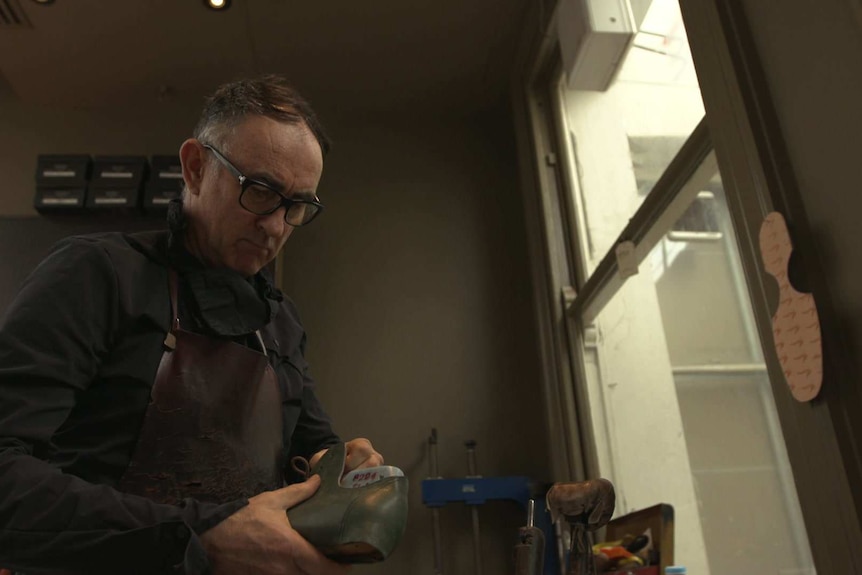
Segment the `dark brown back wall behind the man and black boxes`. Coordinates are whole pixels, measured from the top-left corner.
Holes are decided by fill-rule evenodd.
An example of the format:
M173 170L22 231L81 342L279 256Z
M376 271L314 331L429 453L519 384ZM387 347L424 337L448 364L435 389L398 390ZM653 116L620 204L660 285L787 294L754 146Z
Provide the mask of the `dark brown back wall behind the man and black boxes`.
M170 153L194 114L176 104L34 108L0 94L0 216L34 215L38 153ZM432 427L444 476L466 473L467 439L478 441L484 475L548 473L511 118L327 124L335 140L320 188L327 211L288 243L286 291L303 314L336 430L372 438L411 481L401 547L355 571L431 574L420 484ZM447 571L470 572L469 512L450 506L442 516ZM483 508L480 521L486 572L510 571L525 517L503 503Z

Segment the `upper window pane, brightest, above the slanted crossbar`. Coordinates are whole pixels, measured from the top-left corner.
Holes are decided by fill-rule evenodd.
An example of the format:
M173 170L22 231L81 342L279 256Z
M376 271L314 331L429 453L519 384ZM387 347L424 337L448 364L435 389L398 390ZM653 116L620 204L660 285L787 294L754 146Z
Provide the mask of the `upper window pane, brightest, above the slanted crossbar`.
M560 83L588 273L704 115L676 0L636 4L643 21L610 87Z

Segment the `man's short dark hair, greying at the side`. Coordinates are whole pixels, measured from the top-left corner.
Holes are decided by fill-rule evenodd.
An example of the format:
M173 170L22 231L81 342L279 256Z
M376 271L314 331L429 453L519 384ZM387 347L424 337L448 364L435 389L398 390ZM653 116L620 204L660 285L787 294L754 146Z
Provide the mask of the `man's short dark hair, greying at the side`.
M219 86L204 103L194 137L225 146L225 129L236 126L248 116L265 116L285 124L304 122L320 144L325 156L331 142L311 105L283 76L267 74Z

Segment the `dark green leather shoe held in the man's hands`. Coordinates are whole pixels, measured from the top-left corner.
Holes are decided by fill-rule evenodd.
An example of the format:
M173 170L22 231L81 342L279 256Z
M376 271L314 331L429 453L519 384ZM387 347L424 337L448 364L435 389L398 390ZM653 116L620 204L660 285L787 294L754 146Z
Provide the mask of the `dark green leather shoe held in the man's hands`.
M383 561L407 527L407 478L342 487L345 454L344 443L329 448L312 469L312 474L320 475L320 488L289 509L287 517L300 535L335 561Z

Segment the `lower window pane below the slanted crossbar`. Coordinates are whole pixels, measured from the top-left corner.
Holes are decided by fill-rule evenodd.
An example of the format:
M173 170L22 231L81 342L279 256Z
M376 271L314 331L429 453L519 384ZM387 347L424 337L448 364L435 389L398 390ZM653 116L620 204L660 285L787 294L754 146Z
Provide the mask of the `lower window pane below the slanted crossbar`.
M689 573L813 574L718 175L594 328L587 385L617 516L673 505Z

